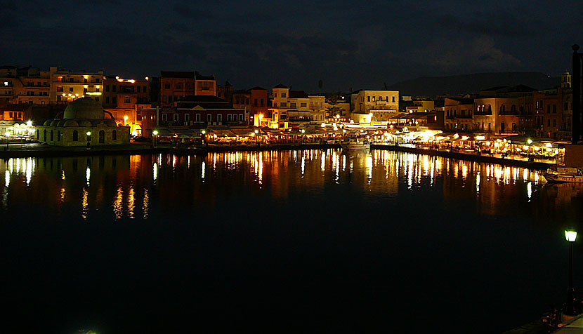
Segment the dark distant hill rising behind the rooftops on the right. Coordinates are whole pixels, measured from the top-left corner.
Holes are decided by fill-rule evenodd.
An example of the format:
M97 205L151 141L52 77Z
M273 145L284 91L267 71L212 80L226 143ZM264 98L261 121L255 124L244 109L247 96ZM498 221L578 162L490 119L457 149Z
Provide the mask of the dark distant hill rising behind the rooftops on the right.
M400 91L400 95L429 96L478 93L494 86L526 85L539 90L561 84L561 78L549 77L537 72L476 73L455 76L431 76L401 81L388 86Z

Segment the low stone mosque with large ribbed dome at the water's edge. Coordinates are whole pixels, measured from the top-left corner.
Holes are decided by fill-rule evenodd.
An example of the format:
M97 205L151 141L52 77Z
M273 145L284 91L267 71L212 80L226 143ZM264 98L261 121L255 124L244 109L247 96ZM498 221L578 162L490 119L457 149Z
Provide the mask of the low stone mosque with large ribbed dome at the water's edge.
M129 126L118 126L100 102L79 98L55 119L37 126L37 140L54 146L128 145Z

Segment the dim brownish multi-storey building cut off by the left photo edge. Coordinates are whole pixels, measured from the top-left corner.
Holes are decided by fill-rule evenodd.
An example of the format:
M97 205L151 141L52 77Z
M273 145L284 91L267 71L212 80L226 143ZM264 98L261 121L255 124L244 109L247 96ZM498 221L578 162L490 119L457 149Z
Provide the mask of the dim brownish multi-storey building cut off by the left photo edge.
M48 105L50 76L37 67L0 67L0 106Z

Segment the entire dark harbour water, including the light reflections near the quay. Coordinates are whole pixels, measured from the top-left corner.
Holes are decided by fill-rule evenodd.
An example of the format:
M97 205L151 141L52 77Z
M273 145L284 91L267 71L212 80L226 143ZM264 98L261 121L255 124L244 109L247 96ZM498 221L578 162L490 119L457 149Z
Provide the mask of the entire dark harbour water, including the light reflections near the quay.
M0 332L501 333L563 302L582 204L398 152L0 161Z

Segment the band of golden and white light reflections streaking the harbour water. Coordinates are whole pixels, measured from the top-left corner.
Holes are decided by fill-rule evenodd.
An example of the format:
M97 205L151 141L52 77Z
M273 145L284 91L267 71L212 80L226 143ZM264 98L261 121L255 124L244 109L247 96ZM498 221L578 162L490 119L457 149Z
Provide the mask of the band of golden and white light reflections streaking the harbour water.
M539 171L528 168L379 150L20 158L0 163L0 173L4 210L41 203L55 214L76 211L83 219L148 219L189 206L221 207L225 194L287 199L320 194L332 185L392 198L433 189L445 201L473 201L485 214L516 211L517 203L543 199L564 206L583 193L580 185L543 187Z

